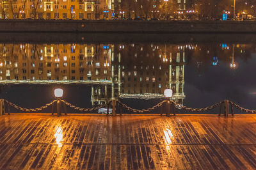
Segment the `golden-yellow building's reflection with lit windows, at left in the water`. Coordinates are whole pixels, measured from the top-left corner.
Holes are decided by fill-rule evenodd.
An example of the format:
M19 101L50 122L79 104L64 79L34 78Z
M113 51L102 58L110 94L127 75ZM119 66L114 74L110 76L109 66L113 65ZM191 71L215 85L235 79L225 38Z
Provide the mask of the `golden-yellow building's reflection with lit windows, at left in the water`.
M0 45L0 80L108 80L111 49L103 45Z

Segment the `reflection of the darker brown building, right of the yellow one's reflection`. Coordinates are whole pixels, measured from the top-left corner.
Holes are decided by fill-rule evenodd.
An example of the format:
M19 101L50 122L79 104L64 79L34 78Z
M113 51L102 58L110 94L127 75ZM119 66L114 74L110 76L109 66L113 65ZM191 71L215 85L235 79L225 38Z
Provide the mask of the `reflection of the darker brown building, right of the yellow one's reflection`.
M183 47L119 45L115 54L120 61L120 97L163 98L164 89L172 88L173 100L183 102Z

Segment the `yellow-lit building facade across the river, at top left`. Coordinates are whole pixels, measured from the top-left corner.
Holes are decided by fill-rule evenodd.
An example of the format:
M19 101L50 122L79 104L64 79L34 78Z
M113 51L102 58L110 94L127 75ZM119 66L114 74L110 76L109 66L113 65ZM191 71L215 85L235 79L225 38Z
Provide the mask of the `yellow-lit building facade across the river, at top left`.
M111 19L111 1L4 0L0 19Z

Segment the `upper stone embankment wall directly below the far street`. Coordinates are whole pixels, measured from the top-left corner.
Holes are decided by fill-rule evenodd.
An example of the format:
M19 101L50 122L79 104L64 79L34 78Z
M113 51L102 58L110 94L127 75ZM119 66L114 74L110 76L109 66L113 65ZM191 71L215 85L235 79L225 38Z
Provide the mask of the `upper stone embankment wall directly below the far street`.
M232 20L0 20L0 32L256 33L256 22Z

